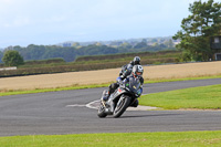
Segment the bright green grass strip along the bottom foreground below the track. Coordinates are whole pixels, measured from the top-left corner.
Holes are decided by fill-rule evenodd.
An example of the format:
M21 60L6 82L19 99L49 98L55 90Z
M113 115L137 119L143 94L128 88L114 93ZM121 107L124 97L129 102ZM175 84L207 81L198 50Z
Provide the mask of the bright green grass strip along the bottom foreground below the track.
M0 137L2 147L220 147L221 130Z

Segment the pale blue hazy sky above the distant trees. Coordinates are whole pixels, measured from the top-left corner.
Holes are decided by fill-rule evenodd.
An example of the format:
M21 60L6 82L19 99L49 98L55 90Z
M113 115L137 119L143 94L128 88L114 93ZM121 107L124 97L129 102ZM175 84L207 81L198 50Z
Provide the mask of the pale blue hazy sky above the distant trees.
M0 0L0 49L169 36L193 1Z

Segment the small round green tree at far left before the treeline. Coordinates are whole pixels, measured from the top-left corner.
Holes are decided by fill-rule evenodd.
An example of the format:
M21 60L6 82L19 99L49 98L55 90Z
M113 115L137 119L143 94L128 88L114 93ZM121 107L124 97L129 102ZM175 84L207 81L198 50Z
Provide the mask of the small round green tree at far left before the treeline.
M18 66L24 63L23 57L15 50L6 51L2 61L7 66Z

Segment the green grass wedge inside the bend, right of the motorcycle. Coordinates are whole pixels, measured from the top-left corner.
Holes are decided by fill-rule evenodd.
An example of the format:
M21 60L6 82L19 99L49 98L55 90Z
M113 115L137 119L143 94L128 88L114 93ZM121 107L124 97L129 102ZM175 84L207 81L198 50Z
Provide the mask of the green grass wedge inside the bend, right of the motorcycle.
M148 94L139 102L165 109L221 109L221 84Z

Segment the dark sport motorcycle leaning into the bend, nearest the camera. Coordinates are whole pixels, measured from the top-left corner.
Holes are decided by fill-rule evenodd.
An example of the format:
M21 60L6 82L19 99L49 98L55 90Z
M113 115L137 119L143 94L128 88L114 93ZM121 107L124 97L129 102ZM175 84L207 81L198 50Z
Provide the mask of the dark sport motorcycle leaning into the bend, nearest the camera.
M119 83L118 88L110 94L107 101L104 101L104 97L107 96L107 90L103 92L97 116L102 118L113 115L117 118L123 115L127 107L137 106L137 98L140 95L141 84L139 78L129 77L126 82Z

